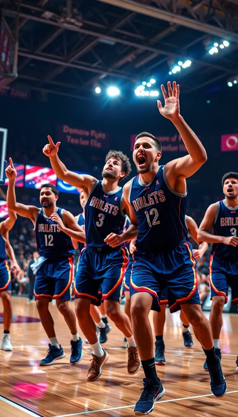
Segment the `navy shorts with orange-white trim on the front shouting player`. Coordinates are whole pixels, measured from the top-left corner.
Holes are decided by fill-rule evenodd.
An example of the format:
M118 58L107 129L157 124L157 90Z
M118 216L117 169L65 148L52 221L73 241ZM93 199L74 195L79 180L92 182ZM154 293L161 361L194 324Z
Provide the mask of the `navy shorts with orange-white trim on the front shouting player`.
M196 260L189 242L163 252L137 250L133 257L131 296L148 292L153 298L151 309L160 311L161 292L167 287L171 312L179 310L181 304L200 304Z

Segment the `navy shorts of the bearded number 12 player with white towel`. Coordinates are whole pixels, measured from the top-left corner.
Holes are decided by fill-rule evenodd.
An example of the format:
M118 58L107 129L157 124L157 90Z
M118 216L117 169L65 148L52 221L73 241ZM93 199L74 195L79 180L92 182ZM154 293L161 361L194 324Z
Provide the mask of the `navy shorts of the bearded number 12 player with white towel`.
M73 256L47 259L36 273L35 298L70 300L73 276Z

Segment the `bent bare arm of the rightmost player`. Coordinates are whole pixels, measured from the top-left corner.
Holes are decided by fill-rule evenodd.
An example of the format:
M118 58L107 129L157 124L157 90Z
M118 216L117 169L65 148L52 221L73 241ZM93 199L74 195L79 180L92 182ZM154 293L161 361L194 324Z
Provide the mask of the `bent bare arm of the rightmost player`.
M225 245L237 246L238 237L235 236L217 236L209 233L217 214L218 203L209 205L202 223L198 230L198 239L207 243L224 243Z

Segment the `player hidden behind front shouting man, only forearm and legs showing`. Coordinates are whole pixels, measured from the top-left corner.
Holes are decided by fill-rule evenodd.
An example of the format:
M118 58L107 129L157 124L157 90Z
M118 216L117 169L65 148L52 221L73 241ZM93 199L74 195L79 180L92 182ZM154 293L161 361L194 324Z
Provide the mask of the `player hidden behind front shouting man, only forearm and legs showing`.
M206 242L199 242L197 238L198 234L198 225L194 219L190 216L185 216L185 222L188 230L188 240L189 236L192 236L194 241L198 244L198 249L193 249L193 255L196 260L200 259L206 250L208 249L208 244ZM160 312L153 311L153 325L155 332L155 364L156 365L165 365L164 357L164 341L163 341L163 330L165 324L165 309L168 303L168 290L165 288L161 293L160 298ZM189 330L189 321L184 314L184 311L180 312L180 319L182 321L182 333L184 338L185 347L193 346L193 338Z

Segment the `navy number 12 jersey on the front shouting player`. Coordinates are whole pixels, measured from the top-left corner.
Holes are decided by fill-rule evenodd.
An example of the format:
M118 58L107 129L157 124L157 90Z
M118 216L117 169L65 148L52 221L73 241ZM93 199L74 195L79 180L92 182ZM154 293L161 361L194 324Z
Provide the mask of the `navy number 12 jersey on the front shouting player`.
M166 250L186 240L187 194L170 188L164 165L148 184L143 184L139 175L132 179L129 201L138 219L138 249Z

